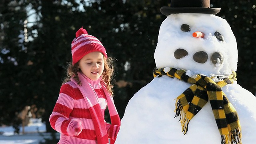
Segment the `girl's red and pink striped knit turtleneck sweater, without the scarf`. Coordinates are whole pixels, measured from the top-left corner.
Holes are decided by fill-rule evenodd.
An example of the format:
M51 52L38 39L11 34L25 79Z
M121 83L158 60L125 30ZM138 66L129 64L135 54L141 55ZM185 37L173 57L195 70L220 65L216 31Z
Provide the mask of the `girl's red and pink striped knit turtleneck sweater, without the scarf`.
M86 77L86 80L88 80L94 88L102 109L102 115L104 116L107 101L106 95L100 84L101 78L92 81ZM82 122L83 129L78 136L71 136L68 132L68 124L70 123L70 119L73 118L81 120ZM58 100L49 120L52 128L57 132L60 132L60 141L58 144L97 144L96 131L89 107L86 105L82 93L74 82L70 81L61 86ZM114 139L119 129L117 130L114 126L115 132L113 132L111 124L108 124L105 121L105 125L108 137Z

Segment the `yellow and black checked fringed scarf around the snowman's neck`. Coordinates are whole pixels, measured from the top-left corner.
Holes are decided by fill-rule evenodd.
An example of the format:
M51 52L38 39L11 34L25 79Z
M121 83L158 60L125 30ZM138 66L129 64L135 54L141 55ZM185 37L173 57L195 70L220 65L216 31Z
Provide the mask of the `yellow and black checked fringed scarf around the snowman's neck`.
M168 71L168 72L166 72ZM220 82L214 82L211 78L198 74L196 78L186 75L185 70L176 68L155 68L154 77L162 75L178 78L192 85L176 98L176 117L180 116L182 132L188 132L190 120L210 100L216 124L218 126L222 141L221 144L242 144L241 126L234 106L222 92L222 87L232 84L236 80L236 73L233 72L229 78Z

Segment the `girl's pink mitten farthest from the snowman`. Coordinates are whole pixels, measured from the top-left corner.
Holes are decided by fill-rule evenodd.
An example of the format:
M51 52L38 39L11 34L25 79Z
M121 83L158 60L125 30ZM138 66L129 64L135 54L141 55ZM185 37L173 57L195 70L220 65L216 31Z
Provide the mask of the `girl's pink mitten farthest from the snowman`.
M83 130L82 122L78 119L71 119L68 124L68 135L69 136L78 136Z

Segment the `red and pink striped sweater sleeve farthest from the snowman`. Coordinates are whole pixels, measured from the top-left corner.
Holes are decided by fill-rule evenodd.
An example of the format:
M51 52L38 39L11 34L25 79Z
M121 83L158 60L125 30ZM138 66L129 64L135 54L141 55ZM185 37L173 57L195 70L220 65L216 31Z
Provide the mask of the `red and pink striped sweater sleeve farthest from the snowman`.
M68 130L72 124L69 116L75 103L74 88L70 84L72 83L68 82L61 86L58 100L49 118L50 125L54 130L68 136L72 135L70 130Z

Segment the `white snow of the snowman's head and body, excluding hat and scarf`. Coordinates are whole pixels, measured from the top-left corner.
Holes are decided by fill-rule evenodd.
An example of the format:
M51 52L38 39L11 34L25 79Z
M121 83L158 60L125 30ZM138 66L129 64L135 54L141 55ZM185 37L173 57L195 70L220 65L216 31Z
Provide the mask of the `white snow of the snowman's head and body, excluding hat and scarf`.
M190 31L182 31L182 24L189 26ZM192 37L195 31L203 32L204 38ZM222 38L214 36L215 32ZM177 49L187 54L184 51L180 54ZM197 52L202 52L199 57L195 55ZM216 52L218 59L212 56ZM184 56L175 58L174 53ZM201 57L206 58L206 62L202 62ZM228 76L236 71L237 57L236 39L230 26L226 20L212 14L168 16L160 27L154 54L157 68L187 70L186 74L191 77L196 74ZM209 102L190 121L186 136L179 117L174 118L175 99L190 86L177 78L154 78L129 101L116 144L220 144L221 136ZM222 91L238 113L243 144L254 144L256 97L237 82L222 87Z

